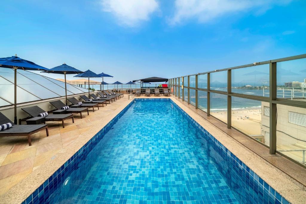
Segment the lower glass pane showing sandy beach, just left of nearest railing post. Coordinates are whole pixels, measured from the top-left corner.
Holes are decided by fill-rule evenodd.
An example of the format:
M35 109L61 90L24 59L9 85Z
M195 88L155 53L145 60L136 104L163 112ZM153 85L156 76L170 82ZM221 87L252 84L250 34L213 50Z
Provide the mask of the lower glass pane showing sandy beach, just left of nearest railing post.
M270 140L265 140L265 130L269 129L269 117L262 114L264 106L266 105L261 101L232 97L231 118L234 128L269 146ZM261 121L268 125L263 127Z

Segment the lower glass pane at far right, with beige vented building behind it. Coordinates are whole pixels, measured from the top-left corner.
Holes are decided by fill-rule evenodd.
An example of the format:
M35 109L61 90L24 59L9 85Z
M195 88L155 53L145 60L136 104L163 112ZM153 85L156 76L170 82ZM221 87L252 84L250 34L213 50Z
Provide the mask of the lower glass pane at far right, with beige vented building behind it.
M303 161L303 152L306 151L305 108L277 104L276 149L305 164Z

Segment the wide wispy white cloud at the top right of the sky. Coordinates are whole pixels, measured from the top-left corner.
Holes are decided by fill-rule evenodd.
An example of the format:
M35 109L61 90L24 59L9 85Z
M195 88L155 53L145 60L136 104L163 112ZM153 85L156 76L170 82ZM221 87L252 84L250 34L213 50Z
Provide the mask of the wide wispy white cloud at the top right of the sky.
M174 16L170 24L178 24L184 20L195 18L201 23L208 22L225 14L250 12L254 14L266 12L272 5L285 5L291 0L175 0Z

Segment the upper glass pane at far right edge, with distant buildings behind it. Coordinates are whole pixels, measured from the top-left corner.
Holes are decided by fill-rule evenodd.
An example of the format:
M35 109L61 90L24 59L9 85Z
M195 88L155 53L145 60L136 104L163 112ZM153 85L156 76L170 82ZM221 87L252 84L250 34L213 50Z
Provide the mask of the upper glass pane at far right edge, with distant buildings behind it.
M306 58L278 62L277 98L306 102Z

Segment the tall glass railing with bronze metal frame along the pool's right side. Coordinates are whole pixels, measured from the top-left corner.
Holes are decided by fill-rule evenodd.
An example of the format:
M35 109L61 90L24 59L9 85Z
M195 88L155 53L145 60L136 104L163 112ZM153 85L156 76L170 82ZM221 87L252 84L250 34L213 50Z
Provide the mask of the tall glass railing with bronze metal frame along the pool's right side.
M269 147L271 154L305 164L306 54L191 73L169 85L181 100Z

